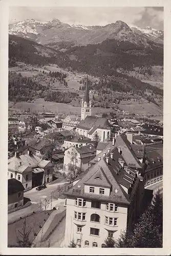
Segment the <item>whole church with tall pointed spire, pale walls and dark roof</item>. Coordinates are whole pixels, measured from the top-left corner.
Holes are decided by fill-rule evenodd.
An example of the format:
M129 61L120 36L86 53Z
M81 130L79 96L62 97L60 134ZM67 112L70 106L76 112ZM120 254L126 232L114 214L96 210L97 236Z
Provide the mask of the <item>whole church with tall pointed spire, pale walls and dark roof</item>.
M81 102L81 121L76 132L93 139L97 133L100 141L108 141L111 137L111 126L106 118L92 116L92 104L89 98L89 79L87 76L86 91Z

